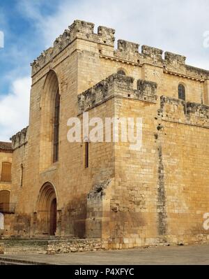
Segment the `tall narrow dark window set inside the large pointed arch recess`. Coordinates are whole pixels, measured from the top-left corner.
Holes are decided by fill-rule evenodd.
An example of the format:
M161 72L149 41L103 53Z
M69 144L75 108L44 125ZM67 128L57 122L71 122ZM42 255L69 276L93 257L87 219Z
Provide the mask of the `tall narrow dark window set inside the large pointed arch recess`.
M56 92L54 102L54 141L53 141L53 162L59 161L59 118L60 118L60 95Z

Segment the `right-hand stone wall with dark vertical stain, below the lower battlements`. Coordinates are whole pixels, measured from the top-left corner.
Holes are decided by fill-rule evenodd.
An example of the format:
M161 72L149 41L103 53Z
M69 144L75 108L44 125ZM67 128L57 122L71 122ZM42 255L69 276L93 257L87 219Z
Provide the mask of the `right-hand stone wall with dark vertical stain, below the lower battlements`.
M117 101L116 117L142 117L139 151L116 143L108 247L206 243L208 106L162 96L154 103ZM201 111L201 113L200 113ZM206 148L206 149L205 149ZM207 167L206 167L207 166ZM196 194L194 194L196 193Z

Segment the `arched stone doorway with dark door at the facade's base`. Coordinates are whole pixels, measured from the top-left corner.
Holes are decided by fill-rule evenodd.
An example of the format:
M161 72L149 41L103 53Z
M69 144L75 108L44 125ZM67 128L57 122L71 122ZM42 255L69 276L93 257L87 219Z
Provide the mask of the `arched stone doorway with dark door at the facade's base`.
M37 203L38 234L56 234L56 190L52 183L45 183L39 192Z

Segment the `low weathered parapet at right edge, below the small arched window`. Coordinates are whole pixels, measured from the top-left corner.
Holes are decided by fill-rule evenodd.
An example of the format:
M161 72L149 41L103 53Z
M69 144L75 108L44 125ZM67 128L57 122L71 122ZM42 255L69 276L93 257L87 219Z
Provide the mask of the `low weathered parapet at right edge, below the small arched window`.
M209 106L161 96L160 111L163 120L209 128Z

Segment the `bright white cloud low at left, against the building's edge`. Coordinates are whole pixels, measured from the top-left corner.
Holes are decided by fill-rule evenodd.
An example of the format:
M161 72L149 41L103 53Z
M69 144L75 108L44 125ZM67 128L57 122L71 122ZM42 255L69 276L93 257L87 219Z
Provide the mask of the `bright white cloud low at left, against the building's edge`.
M14 80L10 93L0 99L0 141L26 127L29 120L31 78Z

